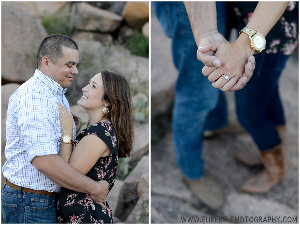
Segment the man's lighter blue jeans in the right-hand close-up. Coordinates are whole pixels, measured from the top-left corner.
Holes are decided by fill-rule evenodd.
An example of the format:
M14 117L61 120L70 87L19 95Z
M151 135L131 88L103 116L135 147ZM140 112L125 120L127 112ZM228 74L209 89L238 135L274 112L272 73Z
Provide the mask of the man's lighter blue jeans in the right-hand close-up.
M152 5L164 32L172 38L173 61L179 70L172 116L176 163L184 176L199 179L204 173L203 130L226 125L226 101L202 74L204 64L196 58L198 47L183 2ZM216 7L218 31L225 36L226 2L216 2Z

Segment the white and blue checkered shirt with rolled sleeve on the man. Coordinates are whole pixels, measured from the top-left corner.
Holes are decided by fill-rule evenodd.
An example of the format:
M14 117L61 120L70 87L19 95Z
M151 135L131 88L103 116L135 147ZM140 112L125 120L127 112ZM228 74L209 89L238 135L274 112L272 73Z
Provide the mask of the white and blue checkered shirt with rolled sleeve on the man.
M61 127L60 102L70 112L63 89L39 70L22 84L9 99L6 119L6 163L4 177L18 186L34 190L60 192L60 187L31 164L36 156L58 155ZM73 126L73 140L76 126Z

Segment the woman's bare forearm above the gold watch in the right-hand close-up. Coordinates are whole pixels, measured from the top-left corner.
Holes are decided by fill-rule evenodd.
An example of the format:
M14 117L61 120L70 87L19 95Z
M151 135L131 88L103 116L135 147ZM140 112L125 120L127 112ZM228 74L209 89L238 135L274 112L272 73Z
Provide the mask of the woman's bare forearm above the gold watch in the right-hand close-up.
M259 1L247 26L266 36L288 4L289 1Z

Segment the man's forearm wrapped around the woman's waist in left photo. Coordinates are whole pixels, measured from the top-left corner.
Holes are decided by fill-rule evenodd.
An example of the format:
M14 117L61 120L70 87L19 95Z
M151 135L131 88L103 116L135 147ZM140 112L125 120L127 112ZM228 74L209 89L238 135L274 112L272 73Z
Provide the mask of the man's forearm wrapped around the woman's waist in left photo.
M61 187L95 194L97 182L80 173L58 155L38 156L32 160L35 168Z

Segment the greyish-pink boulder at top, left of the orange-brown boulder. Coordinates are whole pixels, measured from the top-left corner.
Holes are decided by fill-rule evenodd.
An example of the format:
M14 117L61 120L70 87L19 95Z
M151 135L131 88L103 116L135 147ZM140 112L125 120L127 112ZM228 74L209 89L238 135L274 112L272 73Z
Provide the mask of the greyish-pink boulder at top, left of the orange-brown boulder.
M123 20L122 16L116 13L94 7L85 2L73 4L72 15L78 17L76 29L103 33L115 31Z

